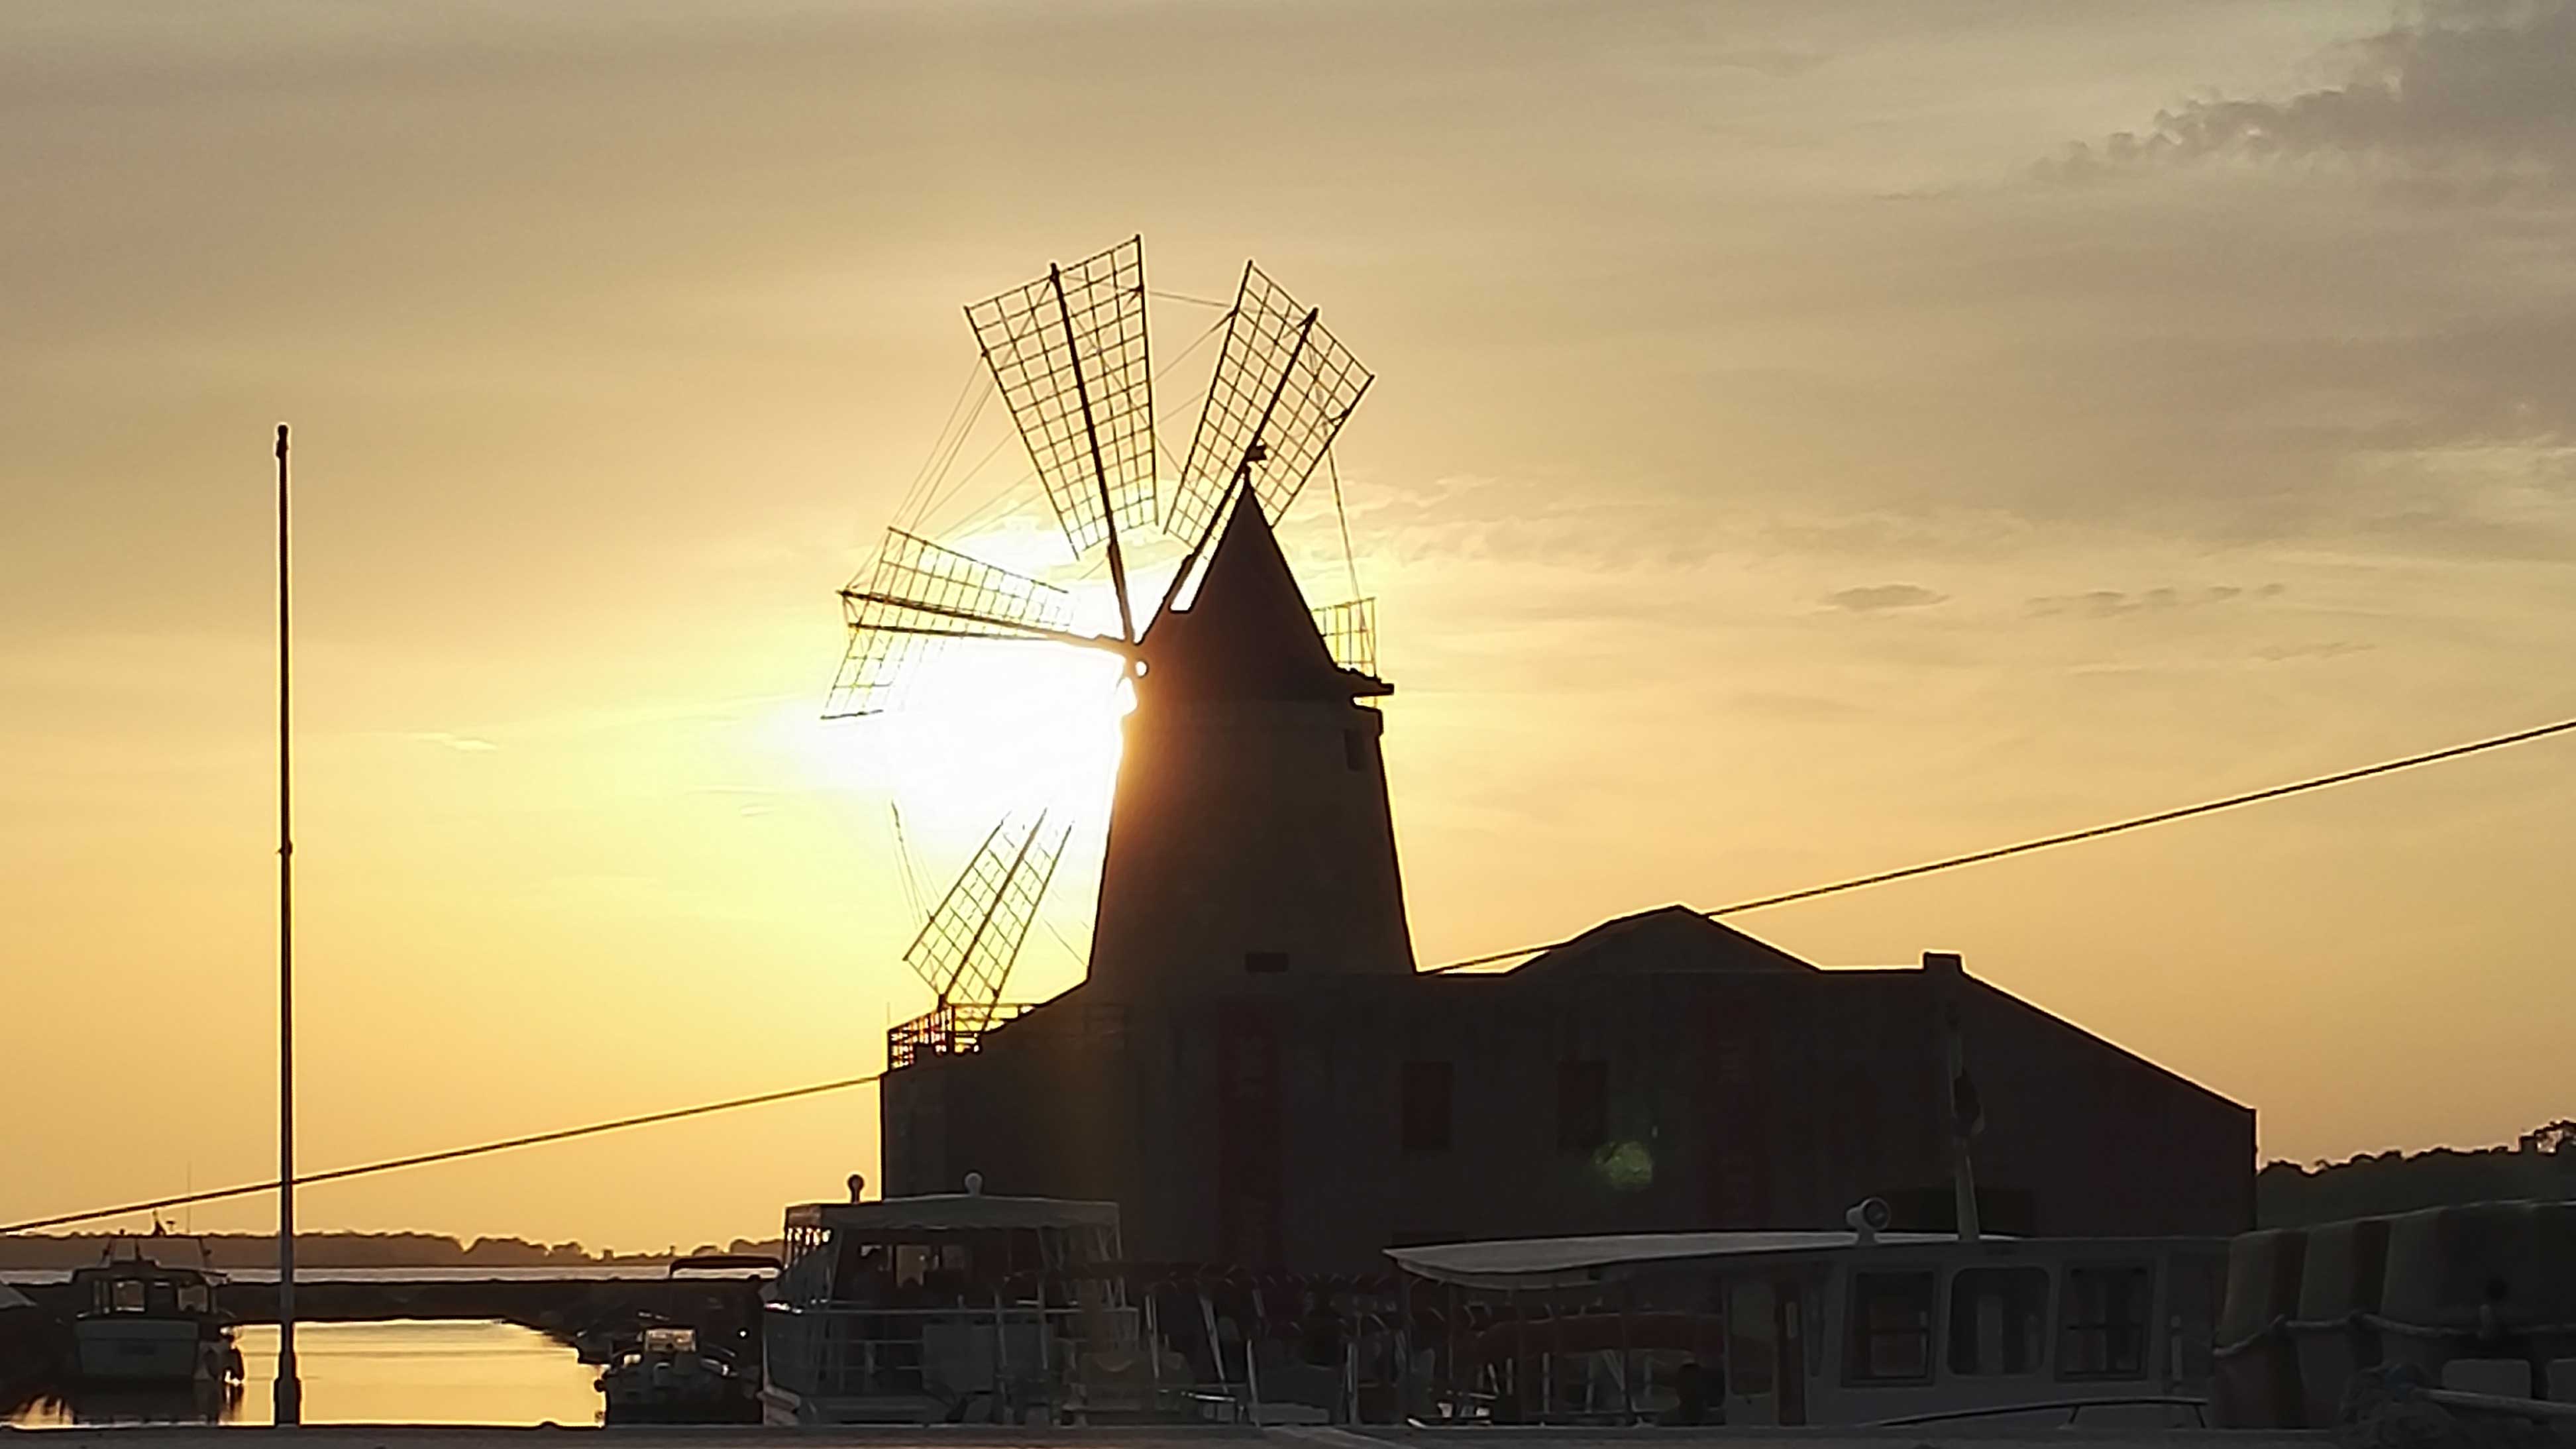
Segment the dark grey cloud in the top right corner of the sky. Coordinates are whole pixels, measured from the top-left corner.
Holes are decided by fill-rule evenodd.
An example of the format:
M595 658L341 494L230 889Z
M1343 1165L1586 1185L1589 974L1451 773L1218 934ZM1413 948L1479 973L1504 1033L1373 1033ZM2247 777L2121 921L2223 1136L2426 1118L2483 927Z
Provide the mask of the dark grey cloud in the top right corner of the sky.
M2331 52L2339 80L2285 101L2208 98L2043 162L2089 178L2141 162L2354 160L2439 199L2576 180L2576 0L2432 0Z

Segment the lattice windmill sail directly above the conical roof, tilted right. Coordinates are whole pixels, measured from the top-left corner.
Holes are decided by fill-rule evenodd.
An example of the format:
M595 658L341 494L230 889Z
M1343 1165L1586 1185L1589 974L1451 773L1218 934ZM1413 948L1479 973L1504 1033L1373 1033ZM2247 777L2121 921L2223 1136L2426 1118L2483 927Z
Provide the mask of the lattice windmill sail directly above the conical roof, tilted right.
M1193 544L1206 536L1255 443L1252 492L1270 518L1280 518L1368 384L1370 371L1314 309L1298 307L1260 266L1244 263L1226 348L1172 487L1164 531Z

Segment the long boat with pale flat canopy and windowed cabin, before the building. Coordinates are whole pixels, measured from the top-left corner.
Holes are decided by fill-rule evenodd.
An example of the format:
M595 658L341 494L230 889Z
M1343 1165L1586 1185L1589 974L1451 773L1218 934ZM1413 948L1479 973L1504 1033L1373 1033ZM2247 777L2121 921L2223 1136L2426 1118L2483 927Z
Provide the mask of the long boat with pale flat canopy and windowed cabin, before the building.
M1388 1248L1422 1426L2205 1423L2226 1238L1628 1232Z

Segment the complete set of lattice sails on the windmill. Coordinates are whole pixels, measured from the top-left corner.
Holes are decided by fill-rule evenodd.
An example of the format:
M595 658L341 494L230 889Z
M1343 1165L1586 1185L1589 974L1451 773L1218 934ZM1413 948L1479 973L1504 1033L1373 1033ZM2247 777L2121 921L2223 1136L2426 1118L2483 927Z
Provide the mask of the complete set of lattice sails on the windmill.
M966 322L1072 562L1100 554L1108 565L1118 632L1079 632L1064 588L889 529L868 570L840 590L848 652L824 719L904 709L922 665L953 647L1095 650L1121 660L1121 683L1133 681L1144 632L1175 608L1229 511L1249 498L1270 518L1285 513L1370 384L1314 307L1244 263L1190 451L1164 490L1141 237L974 302ZM1157 531L1185 552L1139 616L1126 549ZM1373 601L1350 598L1314 616L1337 665L1373 670ZM922 923L904 951L938 998L930 1031L917 1036L922 1049L971 1047L997 1021L1072 830L1061 804L1007 812Z

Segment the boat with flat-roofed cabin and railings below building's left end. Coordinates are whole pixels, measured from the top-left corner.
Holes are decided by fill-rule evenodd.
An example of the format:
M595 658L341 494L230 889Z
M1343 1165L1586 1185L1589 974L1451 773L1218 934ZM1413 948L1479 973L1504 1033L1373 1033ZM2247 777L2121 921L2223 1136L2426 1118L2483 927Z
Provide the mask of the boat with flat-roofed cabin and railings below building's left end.
M1139 1359L1118 1204L961 1194L799 1204L762 1305L768 1423L1087 1421Z

